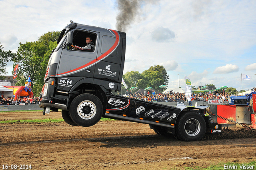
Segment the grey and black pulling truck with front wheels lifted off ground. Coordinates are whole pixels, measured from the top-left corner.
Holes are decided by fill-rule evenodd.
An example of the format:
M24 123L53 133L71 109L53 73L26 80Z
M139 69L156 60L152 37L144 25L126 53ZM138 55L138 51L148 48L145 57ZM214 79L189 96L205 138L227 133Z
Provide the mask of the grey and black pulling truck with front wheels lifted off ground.
M93 50L73 48L86 46L86 37L94 43ZM43 114L60 109L72 126L93 126L102 117L149 124L157 134L184 141L221 132L208 106L174 107L113 94L121 90L126 33L71 21L57 44L49 56L40 94Z

